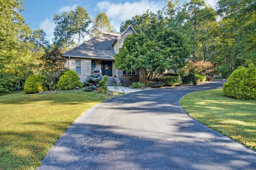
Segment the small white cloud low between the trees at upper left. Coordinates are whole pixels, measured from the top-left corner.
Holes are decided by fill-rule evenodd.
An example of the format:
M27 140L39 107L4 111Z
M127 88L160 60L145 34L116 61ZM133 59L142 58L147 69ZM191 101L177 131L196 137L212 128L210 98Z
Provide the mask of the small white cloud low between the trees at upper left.
M54 38L53 36L54 27L55 27L54 22L49 18L45 18L44 21L40 22L39 28L44 30L46 34L46 38L50 40L50 43L52 43L52 39Z

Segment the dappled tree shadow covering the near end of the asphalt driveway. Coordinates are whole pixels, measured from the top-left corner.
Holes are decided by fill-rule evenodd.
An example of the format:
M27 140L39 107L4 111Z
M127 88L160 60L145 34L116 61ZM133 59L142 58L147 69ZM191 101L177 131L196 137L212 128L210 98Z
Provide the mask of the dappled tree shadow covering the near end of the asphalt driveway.
M236 147L232 140L222 136L212 142L198 138L182 140L190 138L189 134L164 140L134 136L130 131L133 129L74 123L38 169L250 169L256 166L255 153Z

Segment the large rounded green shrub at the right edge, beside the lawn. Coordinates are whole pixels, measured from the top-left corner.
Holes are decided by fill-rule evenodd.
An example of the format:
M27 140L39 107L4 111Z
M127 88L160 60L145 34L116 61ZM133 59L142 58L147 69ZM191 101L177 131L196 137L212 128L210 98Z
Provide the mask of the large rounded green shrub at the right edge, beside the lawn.
M223 95L240 100L256 98L256 67L249 68L240 66L223 85Z

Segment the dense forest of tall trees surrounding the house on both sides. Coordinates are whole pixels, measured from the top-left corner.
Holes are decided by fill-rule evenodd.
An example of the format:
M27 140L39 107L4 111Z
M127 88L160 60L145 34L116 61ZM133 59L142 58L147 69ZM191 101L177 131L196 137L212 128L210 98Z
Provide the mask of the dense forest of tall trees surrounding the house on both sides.
M86 35L116 32L105 12L90 18L78 7L53 16L56 27L50 44L44 30L32 31L26 24L20 14L24 5L20 0L0 0L0 92L22 89L32 74L47 75L51 89L64 69L64 50L81 44ZM255 0L220 0L215 8L204 0L168 0L156 14L148 10L122 22L120 32L129 25L138 34L154 26L172 29L186 40L190 58L212 63L214 74L229 75L240 65L256 65Z

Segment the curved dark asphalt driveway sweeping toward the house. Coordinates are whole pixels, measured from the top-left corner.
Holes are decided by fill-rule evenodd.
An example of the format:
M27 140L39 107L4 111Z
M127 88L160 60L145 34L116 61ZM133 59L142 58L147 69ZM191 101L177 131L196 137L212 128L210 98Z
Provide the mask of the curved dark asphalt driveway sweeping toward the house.
M256 169L256 152L190 117L179 99L223 81L138 91L86 111L46 154L44 169Z

